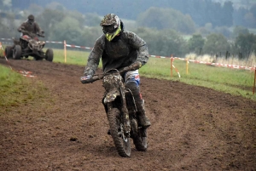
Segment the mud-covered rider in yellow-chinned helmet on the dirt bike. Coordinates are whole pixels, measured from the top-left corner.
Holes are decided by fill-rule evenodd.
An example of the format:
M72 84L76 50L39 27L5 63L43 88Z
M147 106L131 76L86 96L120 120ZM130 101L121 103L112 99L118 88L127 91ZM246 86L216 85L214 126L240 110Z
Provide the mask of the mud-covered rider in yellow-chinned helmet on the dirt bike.
M138 122L143 128L151 123L146 116L143 98L140 94L140 77L138 69L148 62L148 46L141 37L124 30L124 23L116 14L104 16L101 37L96 39L90 52L84 76L93 77L102 57L102 69L118 69L124 72L125 87L130 88L137 105Z

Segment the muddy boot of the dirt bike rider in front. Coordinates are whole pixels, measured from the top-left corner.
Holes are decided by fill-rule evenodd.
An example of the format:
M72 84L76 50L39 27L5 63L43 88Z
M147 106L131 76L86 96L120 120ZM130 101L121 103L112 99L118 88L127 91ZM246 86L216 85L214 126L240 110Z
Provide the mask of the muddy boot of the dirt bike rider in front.
M144 100L142 103L137 103L137 118L138 118L138 123L143 128L148 128L151 125L148 117L146 116Z

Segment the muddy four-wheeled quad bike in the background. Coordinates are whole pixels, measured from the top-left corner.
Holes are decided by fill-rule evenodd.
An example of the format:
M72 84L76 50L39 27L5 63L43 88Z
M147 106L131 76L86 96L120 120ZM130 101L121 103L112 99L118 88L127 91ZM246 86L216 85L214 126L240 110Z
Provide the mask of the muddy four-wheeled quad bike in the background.
M39 41L38 37L44 37L42 34L33 34L22 30L23 36L20 40L13 38L14 45L5 48L5 55L8 59L20 60L22 57L32 56L35 60L52 61L54 54L51 48L44 53L44 41Z

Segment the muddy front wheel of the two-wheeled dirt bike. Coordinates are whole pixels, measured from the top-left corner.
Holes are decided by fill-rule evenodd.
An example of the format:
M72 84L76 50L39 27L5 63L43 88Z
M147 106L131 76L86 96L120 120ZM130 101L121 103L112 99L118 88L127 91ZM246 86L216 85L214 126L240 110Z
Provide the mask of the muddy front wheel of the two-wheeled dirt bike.
M120 157L131 157L130 138L125 136L124 125L120 120L120 111L113 108L108 111L108 122L114 145Z

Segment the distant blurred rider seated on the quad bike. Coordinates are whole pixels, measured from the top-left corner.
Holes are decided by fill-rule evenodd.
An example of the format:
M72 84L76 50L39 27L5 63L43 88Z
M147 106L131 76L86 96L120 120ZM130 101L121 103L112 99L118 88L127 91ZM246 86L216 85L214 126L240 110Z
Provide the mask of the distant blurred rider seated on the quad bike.
M27 20L23 22L20 27L18 28L19 32L27 31L29 33L33 33L36 35L37 33L40 35L44 34L44 31L38 26L38 23L35 21L35 17L30 14L27 16ZM26 32L22 32L21 36L28 35ZM28 35L29 36L29 35Z

